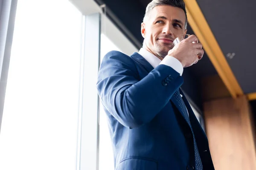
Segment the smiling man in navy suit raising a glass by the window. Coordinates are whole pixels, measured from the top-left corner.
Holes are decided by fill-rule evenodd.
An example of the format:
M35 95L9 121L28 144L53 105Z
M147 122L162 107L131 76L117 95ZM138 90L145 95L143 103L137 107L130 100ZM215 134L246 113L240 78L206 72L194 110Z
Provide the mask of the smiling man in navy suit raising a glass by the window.
M186 34L183 0L153 0L141 24L143 48L105 55L97 88L109 120L116 170L214 170L207 136L180 90L183 68L204 54Z

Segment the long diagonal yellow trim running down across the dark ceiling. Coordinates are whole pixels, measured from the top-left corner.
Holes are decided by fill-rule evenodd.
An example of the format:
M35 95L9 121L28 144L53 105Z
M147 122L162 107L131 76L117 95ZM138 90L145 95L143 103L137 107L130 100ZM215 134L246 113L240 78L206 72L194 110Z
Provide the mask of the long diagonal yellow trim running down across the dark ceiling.
M189 25L198 37L199 41L202 43L204 50L229 90L231 96L236 98L237 96L243 95L243 91L231 71L231 68L228 65L227 60L224 57L224 54L222 53L206 19L204 18L198 3L196 0L184 0L184 2L186 4Z

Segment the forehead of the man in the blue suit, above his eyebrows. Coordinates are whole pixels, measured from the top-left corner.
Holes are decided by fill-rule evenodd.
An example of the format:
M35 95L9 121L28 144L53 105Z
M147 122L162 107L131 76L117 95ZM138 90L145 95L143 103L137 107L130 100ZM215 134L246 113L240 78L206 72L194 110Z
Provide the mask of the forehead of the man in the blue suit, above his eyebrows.
M183 9L169 5L156 6L149 14L150 20L155 20L159 16L164 16L168 20L181 20L183 23L185 23L186 20L186 15Z

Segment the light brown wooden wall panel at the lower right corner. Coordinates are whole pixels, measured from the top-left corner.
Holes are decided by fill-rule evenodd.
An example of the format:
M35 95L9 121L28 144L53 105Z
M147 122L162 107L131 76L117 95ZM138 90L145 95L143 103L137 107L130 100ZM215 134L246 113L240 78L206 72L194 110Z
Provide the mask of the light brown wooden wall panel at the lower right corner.
M256 170L254 126L246 96L204 103L209 147L216 170Z

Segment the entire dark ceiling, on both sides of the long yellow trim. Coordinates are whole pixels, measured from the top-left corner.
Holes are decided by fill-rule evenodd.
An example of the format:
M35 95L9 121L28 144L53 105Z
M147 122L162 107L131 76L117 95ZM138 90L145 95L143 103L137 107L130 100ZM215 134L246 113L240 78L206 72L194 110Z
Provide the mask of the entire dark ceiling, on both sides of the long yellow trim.
M143 37L140 24L145 8L151 0L95 0L99 5L106 4L107 15L116 26L141 48ZM212 34L224 54L224 60L234 74L244 94L256 92L256 20L253 16L256 1L253 0L196 0L207 21ZM188 34L194 34L188 25ZM203 46L204 48L204 46ZM228 53L235 53L230 59ZM219 57L219 56L217 56ZM202 109L200 94L201 80L204 77L217 75L217 71L207 53L195 65L184 69L182 86L186 94Z

